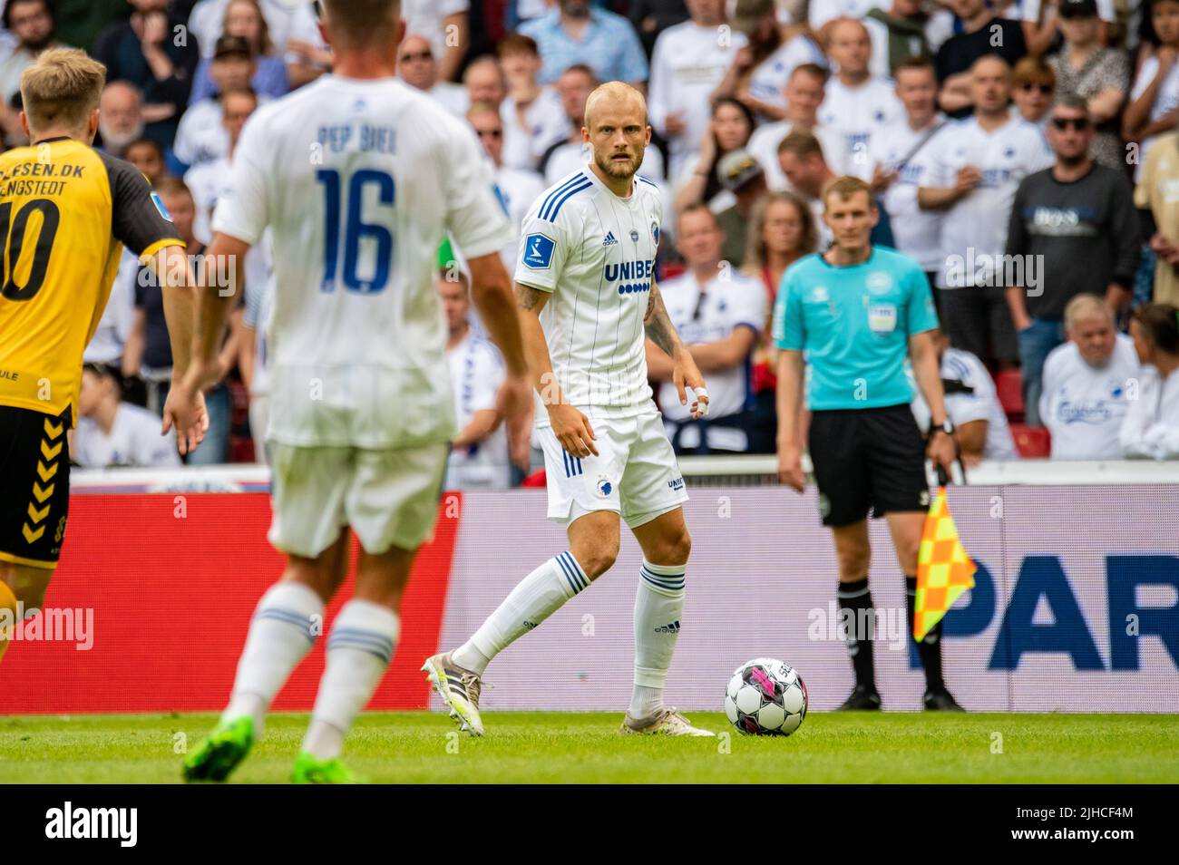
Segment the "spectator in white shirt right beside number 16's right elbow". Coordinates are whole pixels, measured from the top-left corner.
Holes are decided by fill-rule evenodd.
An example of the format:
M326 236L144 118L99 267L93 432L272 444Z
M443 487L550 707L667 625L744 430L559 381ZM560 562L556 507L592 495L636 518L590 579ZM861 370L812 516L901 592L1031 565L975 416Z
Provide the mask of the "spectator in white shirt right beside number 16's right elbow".
M503 365L495 349L472 332L469 282L461 271L440 273L449 338L446 357L454 391L459 434L450 443L446 489L507 489L511 482L508 438L495 396Z

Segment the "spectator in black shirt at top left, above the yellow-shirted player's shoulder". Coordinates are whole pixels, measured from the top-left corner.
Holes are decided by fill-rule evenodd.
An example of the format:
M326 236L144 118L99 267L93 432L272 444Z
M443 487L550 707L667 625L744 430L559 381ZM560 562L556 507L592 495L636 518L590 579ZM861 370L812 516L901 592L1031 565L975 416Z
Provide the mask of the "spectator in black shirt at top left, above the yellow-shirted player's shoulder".
M106 66L108 80L124 79L144 94L145 134L171 146L189 104L200 53L192 39L174 39L184 21L167 14L167 0L129 0L134 12L98 37L93 55Z

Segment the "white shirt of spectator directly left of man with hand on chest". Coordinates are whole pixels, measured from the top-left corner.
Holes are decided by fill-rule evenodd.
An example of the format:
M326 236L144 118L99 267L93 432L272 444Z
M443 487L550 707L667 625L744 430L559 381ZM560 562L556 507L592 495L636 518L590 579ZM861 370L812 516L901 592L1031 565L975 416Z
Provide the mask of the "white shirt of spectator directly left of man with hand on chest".
M898 171L896 180L884 191L884 210L893 226L896 247L915 259L922 270L938 271L943 265L941 232L942 213L917 206L917 189L928 186L926 172L929 164L917 157L931 147L937 136L946 132L944 118L936 118L934 126L915 132L908 119L885 126L872 137L872 164L883 171ZM936 132L933 132L934 130ZM930 137L933 132L933 137ZM924 141L916 153L914 147ZM901 161L904 165L901 165Z

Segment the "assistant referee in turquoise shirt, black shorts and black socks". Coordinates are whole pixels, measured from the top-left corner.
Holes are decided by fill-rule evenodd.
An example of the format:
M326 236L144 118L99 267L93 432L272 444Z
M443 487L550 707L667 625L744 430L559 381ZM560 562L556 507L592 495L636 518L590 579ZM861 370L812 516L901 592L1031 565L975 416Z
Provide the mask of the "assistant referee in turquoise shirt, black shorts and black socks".
M796 262L782 277L773 313L778 357L778 476L802 493L799 417L803 370L809 365L809 451L823 524L831 528L839 562L839 600L856 687L842 709L878 709L871 638L875 610L868 588L869 511L888 519L905 577L913 639L917 552L929 487L926 457L947 473L954 428L933 335L937 313L916 262L874 247L869 235L880 213L863 180L841 177L823 191L823 219L835 235L825 252ZM926 436L909 402L905 358L930 408ZM917 653L926 669L927 709L961 711L942 680L942 626Z

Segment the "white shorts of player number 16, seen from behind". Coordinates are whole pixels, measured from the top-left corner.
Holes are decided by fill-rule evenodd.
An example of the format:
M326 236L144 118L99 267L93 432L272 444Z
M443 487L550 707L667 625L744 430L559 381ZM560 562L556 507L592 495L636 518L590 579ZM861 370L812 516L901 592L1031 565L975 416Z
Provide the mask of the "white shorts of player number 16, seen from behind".
M269 442L270 542L314 559L351 526L365 553L416 549L434 536L447 444L397 450Z

